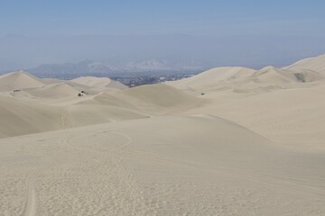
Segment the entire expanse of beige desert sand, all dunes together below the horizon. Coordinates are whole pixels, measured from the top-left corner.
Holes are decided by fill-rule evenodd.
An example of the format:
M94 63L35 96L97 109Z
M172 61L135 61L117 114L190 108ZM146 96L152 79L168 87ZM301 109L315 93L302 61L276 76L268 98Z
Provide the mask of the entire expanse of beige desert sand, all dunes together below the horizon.
M0 76L0 215L325 215L324 71Z

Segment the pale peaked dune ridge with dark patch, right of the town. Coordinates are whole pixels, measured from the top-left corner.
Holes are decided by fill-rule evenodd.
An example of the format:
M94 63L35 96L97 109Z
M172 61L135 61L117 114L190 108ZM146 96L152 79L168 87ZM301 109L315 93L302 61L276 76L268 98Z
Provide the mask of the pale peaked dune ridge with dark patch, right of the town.
M283 88L300 87L302 83L324 80L324 76L311 70L294 71L264 67L253 70L246 67L217 67L197 76L167 82L194 94L233 90L237 93L264 93Z

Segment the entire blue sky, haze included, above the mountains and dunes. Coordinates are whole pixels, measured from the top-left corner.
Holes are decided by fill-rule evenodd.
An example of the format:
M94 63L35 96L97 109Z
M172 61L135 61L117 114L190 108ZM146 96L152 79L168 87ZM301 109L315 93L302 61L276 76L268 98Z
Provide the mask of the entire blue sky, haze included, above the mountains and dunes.
M325 53L324 11L323 0L1 0L0 71L99 58L281 66Z

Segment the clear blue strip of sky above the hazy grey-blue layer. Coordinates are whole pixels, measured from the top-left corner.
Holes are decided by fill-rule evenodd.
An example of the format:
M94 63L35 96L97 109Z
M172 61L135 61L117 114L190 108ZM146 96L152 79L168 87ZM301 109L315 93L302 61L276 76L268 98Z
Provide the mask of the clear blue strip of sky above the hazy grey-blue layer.
M2 35L324 35L324 9L323 0L2 0L0 26Z

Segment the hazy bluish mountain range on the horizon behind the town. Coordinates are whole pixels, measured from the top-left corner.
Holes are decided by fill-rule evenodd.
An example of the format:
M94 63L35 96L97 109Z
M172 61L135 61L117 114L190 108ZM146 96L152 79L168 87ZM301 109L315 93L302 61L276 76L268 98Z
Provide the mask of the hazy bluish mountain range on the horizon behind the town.
M172 62L165 59L148 59L112 64L107 61L85 60L79 63L44 64L27 68L33 75L41 77L74 78L76 76L120 76L131 73L189 73L207 69L200 62Z

